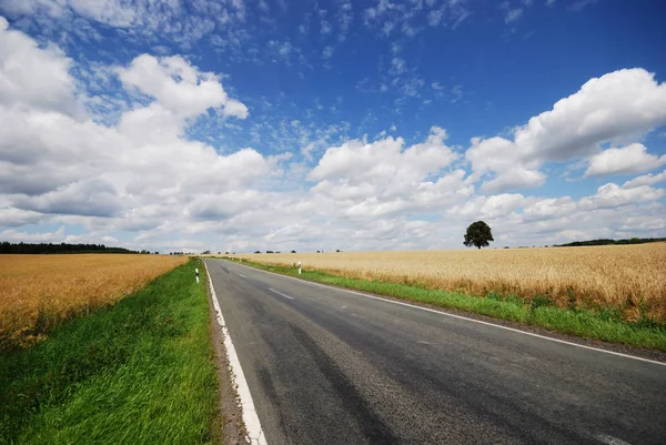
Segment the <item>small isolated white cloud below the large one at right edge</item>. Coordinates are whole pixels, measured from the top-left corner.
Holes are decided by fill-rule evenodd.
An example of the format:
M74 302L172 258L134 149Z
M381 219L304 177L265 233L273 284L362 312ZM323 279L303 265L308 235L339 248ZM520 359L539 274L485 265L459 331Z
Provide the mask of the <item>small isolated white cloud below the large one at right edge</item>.
M607 149L589 159L585 176L601 176L618 173L643 173L666 164L666 155L648 154L642 143L633 143L619 149Z

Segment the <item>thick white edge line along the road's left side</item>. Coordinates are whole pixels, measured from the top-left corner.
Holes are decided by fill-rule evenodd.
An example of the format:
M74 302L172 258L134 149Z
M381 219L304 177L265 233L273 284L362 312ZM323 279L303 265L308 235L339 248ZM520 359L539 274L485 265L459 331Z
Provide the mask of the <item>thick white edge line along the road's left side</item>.
M222 310L220 309L218 295L215 295L215 289L213 287L213 281L211 280L208 266L205 267L205 274L209 279L211 299L213 300L213 306L215 307L218 323L220 324L220 327L222 328L222 334L224 335L224 347L226 350L229 367L231 368L231 378L233 380L233 383L235 383L239 397L241 398L243 423L245 424L248 438L250 439L250 443L252 445L268 445L266 438L261 428L261 423L259 422L259 416L256 415L256 409L254 408L254 402L252 401L252 394L250 394L250 387L248 386L245 375L243 374L243 368L241 367L241 362L239 361L235 347L233 347L231 335L229 335L229 330L226 328L226 323L224 323Z

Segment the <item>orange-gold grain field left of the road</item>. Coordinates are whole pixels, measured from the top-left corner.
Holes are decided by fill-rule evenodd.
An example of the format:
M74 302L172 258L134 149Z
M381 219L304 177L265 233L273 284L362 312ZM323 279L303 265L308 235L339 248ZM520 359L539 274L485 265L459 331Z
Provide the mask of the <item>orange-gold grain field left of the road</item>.
M34 342L58 322L112 304L186 261L140 254L0 255L0 346Z

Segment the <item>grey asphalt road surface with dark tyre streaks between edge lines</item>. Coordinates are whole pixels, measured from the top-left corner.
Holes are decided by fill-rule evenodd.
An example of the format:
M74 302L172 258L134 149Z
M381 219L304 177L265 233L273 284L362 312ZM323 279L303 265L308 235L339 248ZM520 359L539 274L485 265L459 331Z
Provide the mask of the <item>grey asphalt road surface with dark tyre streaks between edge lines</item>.
M205 263L269 444L666 444L666 366Z

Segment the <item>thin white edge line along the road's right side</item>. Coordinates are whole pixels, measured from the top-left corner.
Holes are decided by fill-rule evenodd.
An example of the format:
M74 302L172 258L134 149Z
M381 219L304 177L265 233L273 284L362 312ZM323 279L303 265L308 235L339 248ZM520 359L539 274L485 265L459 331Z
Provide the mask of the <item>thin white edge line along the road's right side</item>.
M634 360L638 360L640 362L647 362L647 363L653 363L655 365L666 366L666 363L664 363L664 362L657 362L655 360L637 357L636 355L623 354L620 352L602 350L599 347L594 347L594 346L586 346L586 345L582 345L582 344L574 343L574 342L567 342L566 340L553 338L553 337L549 337L549 336L546 336L546 335L535 334L533 332L516 330L515 327L508 327L508 326L503 326L501 324L488 323L488 322L484 322L482 320L470 318L470 317L463 316L463 315L450 314L448 312L436 311L436 310L430 309L430 307L416 306L414 304L397 302L395 300L383 299L381 296L375 296L375 295L369 295L369 294L364 294L362 292L350 291L350 290L346 290L346 289L329 286L326 284L314 283L312 281L302 280L302 279L295 279L293 276L282 275L282 274L275 273L275 272L263 271L261 269L251 267L251 266L244 265L244 264L241 264L241 265L243 267L248 267L248 269L251 269L253 271L270 273L271 275L278 275L278 276L282 276L283 279L295 280L295 281L297 281L300 283L306 283L306 284L311 284L313 286L320 286L320 287L325 287L325 289L330 289L330 290L333 290L333 291L345 292L345 293L354 294L354 295L361 295L361 296L365 296L366 299L380 300L380 301L383 301L383 302L386 302L386 303L400 304L401 306L407 306L407 307L418 309L421 311L433 312L435 314L446 315L446 316L451 316L451 317L454 317L454 318L466 320L468 322L485 324L486 326L494 326L494 327L498 327L501 330L517 332L518 334L529 335L529 336L537 337L537 338L543 338L543 340L549 340L551 342L563 343L563 344L567 344L567 345L571 345L571 346L583 347L585 350L603 352L603 353L606 353L606 354L617 355L617 356L625 357L625 358L634 358Z

